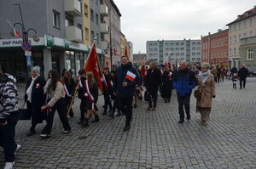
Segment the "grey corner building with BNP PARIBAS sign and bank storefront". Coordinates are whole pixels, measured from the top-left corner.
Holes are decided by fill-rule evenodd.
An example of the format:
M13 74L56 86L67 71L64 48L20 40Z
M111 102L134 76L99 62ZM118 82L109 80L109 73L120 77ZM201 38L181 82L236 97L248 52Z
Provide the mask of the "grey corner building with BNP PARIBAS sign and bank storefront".
M64 68L77 76L90 47L83 44L82 0L9 0L0 6L0 63L5 72L27 78L27 60L20 48L21 37L11 37L11 25L21 23L19 3L26 30L37 31L39 42L32 43L32 66L39 65L42 75L48 76L51 69L61 72ZM15 29L22 35L20 25ZM29 37L35 32L28 31ZM97 50L102 54L100 49ZM27 76L26 76L27 75Z

